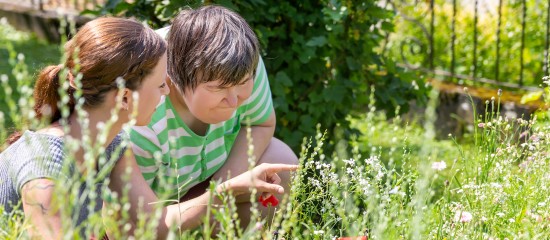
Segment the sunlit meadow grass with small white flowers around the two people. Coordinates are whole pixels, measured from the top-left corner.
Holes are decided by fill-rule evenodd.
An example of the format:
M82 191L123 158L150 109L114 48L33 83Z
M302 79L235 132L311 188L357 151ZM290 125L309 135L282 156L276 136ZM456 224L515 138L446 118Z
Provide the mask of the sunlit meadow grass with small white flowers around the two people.
M28 69L25 67L28 59L17 60L15 63L21 66L17 69ZM17 78L17 71L14 74L4 71L7 70L0 74L5 74L9 82ZM28 81L32 80L23 83ZM23 91L19 95L6 95L2 103L8 106L4 108L6 112L3 110L5 116L29 117L30 94ZM497 92L495 97L487 104L498 105ZM343 139L344 144L338 145L334 153L325 153L324 144L339 141L318 126L317 135L304 139L299 154L301 168L294 174L291 189L287 189L288 198L282 199L279 206L269 208L274 213L270 221L257 217L256 208L262 207L255 204L249 227L236 227L239 222L235 199L221 195L217 197L223 204L209 206L211 218L205 218L201 227L188 231L174 228L170 238L550 238L547 161L550 125L540 121L540 117L526 121L487 112L475 119L475 131L466 139L458 142L449 136L438 140L435 138L437 126L433 125L437 93L432 92L430 99L421 125L399 117L387 119L373 107L372 100L368 112L350 118L352 126L361 134ZM10 108L14 102L18 103L17 108ZM82 115L81 121L85 121L85 117ZM20 122L16 127L22 129L37 124ZM5 131L0 124L0 132ZM5 135L0 138L3 141ZM89 146L88 151L92 155L86 164L93 164L101 149ZM64 185L69 187L59 190L59 196L67 196L58 201L64 218L74 219L71 210L86 207L79 205L78 186L83 181L93 182L94 177L88 174L85 179L72 179L73 185ZM127 238L130 229L127 196L116 196L107 190L101 197L110 203L107 214L91 216L82 227L86 232L99 232L107 225L115 229L115 239ZM139 239L154 238L153 229L159 216L157 211L140 217L136 227ZM214 222L219 223L218 233L212 233ZM25 229L29 227L21 212L3 213L2 210L0 226L0 239L24 239ZM63 227L67 238L78 239L80 230L70 221Z

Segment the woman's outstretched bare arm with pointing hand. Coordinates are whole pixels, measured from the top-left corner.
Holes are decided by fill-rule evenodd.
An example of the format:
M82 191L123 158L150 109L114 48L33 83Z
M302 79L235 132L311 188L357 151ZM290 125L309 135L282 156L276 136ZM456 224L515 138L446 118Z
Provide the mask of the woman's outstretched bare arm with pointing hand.
M223 182L215 190L217 193L230 191L234 196L238 196L248 193L249 188L254 187L260 192L282 194L284 193L284 188L278 185L280 178L277 173L281 171L294 171L297 167L296 165L286 164L262 164L255 167L252 171ZM128 174L130 176L127 176ZM141 175L131 152L125 154L124 158L119 160L113 168L109 188L117 192L119 196L124 196L125 189L129 188L128 200L130 208L128 209L128 214L134 226L139 221L140 212L146 213L144 216L149 219L155 219L153 212L156 210L156 207L161 207L159 205L162 205L162 203L155 204L158 199L151 188L145 183L145 179ZM168 230L174 225L184 230L200 226L203 218L206 216L209 203L213 204L212 206L222 204L214 196L213 192L207 190L202 195L191 200L159 209L161 216L156 229L157 239L166 239ZM107 203L106 206L108 206ZM139 206L141 206L141 209L138 208Z

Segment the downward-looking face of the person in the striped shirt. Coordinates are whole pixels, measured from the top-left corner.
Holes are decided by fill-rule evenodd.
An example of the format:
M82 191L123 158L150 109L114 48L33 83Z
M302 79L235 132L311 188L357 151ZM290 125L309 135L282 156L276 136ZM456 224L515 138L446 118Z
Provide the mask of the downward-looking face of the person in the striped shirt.
M221 87L219 80L200 83L195 91L187 90L183 99L187 108L204 123L216 124L228 120L241 104L250 97L254 80L251 74L242 84Z

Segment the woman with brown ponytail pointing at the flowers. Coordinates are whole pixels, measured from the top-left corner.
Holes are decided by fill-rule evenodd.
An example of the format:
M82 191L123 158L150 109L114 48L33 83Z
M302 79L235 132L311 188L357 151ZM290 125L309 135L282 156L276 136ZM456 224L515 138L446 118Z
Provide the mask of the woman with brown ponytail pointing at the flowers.
M127 192L132 226L139 211L152 212L154 207L147 203L157 200L130 151L123 154L126 137L122 128L134 113L137 113L135 125L148 124L161 97L168 94L166 43L139 22L99 18L84 25L67 42L65 53L65 63L46 67L35 86L36 116L50 124L38 131L13 136L9 139L10 147L0 154L0 206L9 212L20 204L32 225L31 237L59 239L67 230L85 237L94 235L83 223L101 209L107 182L118 196ZM63 68L69 70L67 75ZM73 74L76 71L78 75ZM118 86L119 77L124 79L122 88ZM60 79L64 78L69 83L66 90L69 115L66 124L61 124L62 109L58 103L63 102L59 89L63 89ZM76 111L75 106L82 109ZM79 121L79 112L84 113L85 121ZM105 132L110 120L112 124ZM73 153L68 148L74 142L81 144ZM88 144L98 146L101 154L94 156L97 150ZM93 161L90 156L94 156ZM240 195L255 187L260 192L282 193L276 172L295 168L264 164L223 182L216 191ZM76 202L82 205L67 210L60 203L71 202L72 198L59 193L74 186L78 187ZM208 191L193 201L162 209L158 237L164 238L174 224L183 228L198 226L212 194ZM212 201L216 204L216 199ZM73 211L68 214L72 216L70 221L63 218L67 214L61 214L66 211ZM71 228L66 227L67 222Z

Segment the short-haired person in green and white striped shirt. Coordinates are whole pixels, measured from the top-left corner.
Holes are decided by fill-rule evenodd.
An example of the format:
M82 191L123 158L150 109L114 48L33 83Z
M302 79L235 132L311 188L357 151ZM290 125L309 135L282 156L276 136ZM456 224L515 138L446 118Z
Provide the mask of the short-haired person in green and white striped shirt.
M248 170L247 122L256 164L297 163L273 137L275 112L259 43L242 17L219 6L184 10L166 39L170 94L148 126L131 132L140 170L158 196L186 201L210 179ZM289 174L280 177L288 186ZM237 201L239 211L249 211L248 197Z

